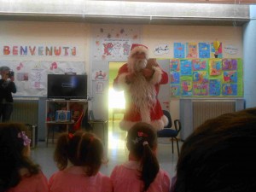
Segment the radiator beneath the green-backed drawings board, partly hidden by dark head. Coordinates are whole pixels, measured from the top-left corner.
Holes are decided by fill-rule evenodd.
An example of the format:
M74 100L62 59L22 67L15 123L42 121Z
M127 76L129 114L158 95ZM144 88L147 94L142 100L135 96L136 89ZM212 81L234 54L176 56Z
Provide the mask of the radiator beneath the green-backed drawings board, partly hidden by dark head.
M193 128L201 125L207 119L212 119L220 114L236 111L236 101L193 101Z

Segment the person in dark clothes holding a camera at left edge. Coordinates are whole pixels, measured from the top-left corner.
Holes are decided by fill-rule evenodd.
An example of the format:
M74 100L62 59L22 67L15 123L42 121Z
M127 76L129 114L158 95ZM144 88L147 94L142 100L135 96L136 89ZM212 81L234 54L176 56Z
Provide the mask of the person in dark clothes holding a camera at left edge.
M16 93L14 72L10 71L9 67L0 67L0 121L9 121L10 115L13 112L13 96Z

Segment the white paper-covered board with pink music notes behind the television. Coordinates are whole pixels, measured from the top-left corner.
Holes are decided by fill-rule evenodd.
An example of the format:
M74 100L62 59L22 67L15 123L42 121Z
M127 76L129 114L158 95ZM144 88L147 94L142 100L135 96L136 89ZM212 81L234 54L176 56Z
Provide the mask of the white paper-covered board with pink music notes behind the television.
M83 61L0 61L15 72L17 92L13 96L47 96L47 74L84 74Z

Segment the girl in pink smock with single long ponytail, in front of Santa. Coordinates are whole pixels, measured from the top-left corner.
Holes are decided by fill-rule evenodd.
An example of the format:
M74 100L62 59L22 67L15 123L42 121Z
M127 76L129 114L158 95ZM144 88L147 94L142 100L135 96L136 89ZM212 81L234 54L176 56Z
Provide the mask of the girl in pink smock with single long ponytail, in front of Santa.
M129 161L115 166L111 174L114 192L169 192L170 177L161 170L156 158L157 137L154 127L137 123L128 131L126 146Z

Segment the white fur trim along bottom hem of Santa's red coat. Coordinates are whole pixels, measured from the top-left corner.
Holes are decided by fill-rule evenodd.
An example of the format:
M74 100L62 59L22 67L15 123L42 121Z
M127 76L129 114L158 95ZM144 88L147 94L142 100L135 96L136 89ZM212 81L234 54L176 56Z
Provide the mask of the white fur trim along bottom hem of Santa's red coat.
M127 121L127 120L123 119L120 121L119 126L120 126L121 130L128 131L136 123L137 122ZM146 122L146 123L148 123L148 122ZM166 118L165 115L163 115L160 119L151 121L149 124L151 124L156 131L160 131L160 130L164 129L164 127L168 124L168 119Z

